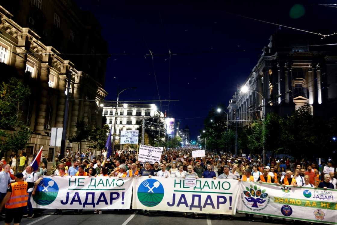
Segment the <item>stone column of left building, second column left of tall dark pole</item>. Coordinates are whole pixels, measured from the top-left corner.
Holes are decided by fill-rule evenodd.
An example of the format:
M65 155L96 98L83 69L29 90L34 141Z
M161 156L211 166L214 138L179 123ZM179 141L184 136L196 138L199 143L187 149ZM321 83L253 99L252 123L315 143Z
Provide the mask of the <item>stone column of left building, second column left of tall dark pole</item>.
M47 99L48 99L48 82L49 82L49 65L48 63L41 63L40 70L40 101L37 111L37 117L35 122L34 132L39 133L41 135L45 135L44 133L44 125L45 125L45 116L47 110Z

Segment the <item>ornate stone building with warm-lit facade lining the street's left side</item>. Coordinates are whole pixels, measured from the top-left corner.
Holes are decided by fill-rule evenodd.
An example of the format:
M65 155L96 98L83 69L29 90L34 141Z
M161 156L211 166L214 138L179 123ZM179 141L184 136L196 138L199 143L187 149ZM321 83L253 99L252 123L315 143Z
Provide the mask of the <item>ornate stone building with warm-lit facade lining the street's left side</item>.
M71 0L1 3L0 81L18 77L32 92L23 106L23 117L33 132L27 155L43 145L43 154L53 160L59 151L60 147L50 146L50 134L52 127L63 127L68 73L72 76L67 137L76 131L78 118L92 127L101 126L99 105L108 94L103 89L107 51L97 21ZM82 142L81 150L88 144ZM79 150L78 144L68 141L66 147Z

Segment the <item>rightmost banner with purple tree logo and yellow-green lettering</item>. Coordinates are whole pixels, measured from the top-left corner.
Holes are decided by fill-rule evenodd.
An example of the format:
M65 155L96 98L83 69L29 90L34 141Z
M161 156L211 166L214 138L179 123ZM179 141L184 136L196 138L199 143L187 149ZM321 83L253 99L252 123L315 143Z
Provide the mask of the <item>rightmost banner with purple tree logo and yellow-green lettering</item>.
M337 224L337 190L242 181L238 212Z

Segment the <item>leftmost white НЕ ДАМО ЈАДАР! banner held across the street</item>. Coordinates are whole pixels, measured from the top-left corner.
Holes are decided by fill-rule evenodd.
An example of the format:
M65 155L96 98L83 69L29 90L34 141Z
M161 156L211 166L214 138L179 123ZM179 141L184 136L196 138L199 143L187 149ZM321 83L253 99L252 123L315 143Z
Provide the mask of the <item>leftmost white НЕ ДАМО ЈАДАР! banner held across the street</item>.
M32 196L34 208L130 209L132 178L46 176Z

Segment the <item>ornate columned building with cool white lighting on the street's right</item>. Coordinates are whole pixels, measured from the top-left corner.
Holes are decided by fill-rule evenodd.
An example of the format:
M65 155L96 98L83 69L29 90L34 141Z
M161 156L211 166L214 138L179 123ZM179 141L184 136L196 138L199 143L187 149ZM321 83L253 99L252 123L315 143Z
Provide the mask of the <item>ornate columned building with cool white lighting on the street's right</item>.
M328 38L326 38L328 39ZM337 51L318 36L275 34L227 109L231 120L290 115L306 107L314 116L334 116L337 103ZM243 93L241 87L248 91Z

